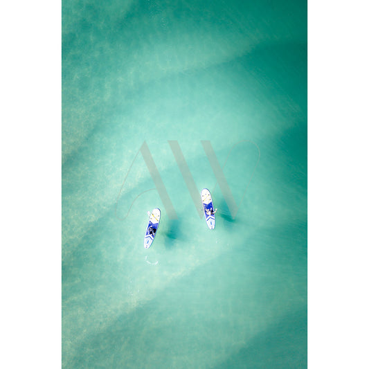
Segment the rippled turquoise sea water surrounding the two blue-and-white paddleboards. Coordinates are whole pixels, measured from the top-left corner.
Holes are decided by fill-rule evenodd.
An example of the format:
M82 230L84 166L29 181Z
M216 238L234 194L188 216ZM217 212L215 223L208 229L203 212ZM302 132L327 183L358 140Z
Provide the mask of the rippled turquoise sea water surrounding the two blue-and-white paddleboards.
M62 366L307 367L304 1L63 1Z

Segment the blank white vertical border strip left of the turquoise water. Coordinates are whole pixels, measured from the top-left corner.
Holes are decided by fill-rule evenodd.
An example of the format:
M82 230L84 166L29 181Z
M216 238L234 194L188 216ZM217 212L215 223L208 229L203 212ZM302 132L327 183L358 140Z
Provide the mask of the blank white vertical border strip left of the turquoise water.
M61 8L1 5L1 368L61 366Z

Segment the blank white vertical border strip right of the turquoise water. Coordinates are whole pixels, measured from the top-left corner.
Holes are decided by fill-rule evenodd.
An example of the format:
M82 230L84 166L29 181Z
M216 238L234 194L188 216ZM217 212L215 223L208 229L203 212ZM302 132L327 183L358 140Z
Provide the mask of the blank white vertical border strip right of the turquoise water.
M308 14L309 368L369 368L368 6Z

